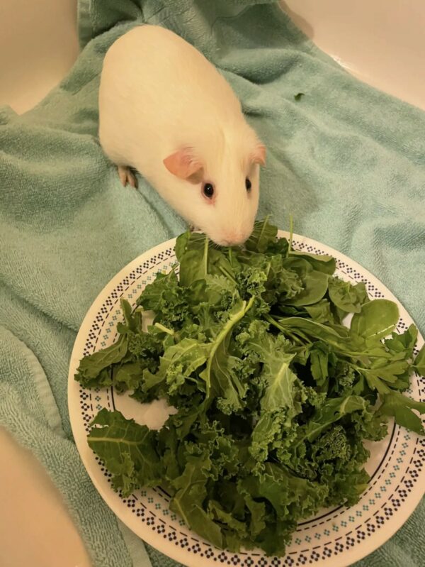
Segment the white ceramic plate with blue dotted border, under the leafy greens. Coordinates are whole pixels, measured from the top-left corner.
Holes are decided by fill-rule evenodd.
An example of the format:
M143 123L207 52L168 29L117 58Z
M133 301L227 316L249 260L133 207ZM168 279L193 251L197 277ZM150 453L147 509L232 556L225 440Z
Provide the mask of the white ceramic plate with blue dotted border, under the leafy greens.
M288 237L288 233L280 232ZM91 480L111 510L135 534L164 554L189 567L217 564L239 567L298 567L314 564L344 567L382 545L404 524L424 494L425 439L393 424L386 439L370 444L367 463L371 475L368 489L357 505L322 510L316 517L299 524L285 557L266 557L262 551L233 554L216 549L186 528L169 511L169 497L161 488L137 490L128 498L111 488L111 475L89 448L86 435L89 424L103 407L118 409L127 418L157 427L166 418L165 404L139 404L127 395L108 390L86 390L75 382L79 360L104 348L117 336L115 327L122 316L120 298L135 305L137 297L159 271L167 272L176 263L175 240L164 242L142 254L113 277L89 309L81 325L69 368L69 416L81 459ZM324 244L294 235L293 246L300 251L330 254L337 260L337 275L352 282L365 282L370 298L397 299L372 274L350 258ZM402 332L412 319L399 304L397 326ZM419 337L416 348L424 343ZM409 395L425 400L425 379L412 378Z

